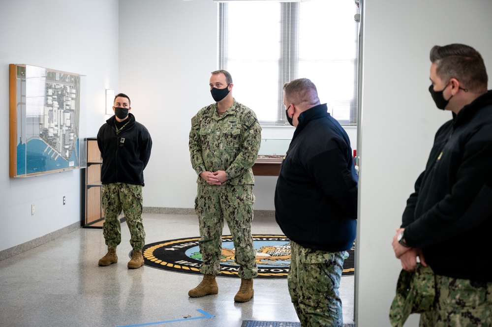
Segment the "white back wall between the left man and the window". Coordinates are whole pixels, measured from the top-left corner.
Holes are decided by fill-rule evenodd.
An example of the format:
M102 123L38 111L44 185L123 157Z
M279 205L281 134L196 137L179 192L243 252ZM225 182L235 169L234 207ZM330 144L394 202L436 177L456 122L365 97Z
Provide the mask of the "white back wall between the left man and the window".
M151 133L144 171L145 207L193 208L191 118L211 103L217 61L217 4L210 1L120 0L120 88Z

